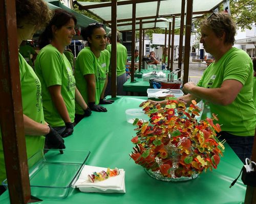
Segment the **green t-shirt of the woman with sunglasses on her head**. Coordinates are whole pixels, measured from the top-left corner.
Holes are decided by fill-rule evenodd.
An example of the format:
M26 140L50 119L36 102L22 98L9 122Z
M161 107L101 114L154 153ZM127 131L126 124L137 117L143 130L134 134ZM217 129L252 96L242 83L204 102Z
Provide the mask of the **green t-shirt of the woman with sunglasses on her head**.
M103 50L99 58L96 58L90 47L84 47L78 54L75 65L76 86L81 93L83 99L88 103L87 83L84 79L86 74L95 74L96 93L95 104L99 104L101 92L104 88L106 73L109 72L110 53L108 50ZM89 90L90 91L90 90ZM83 114L83 110L76 103L76 113Z

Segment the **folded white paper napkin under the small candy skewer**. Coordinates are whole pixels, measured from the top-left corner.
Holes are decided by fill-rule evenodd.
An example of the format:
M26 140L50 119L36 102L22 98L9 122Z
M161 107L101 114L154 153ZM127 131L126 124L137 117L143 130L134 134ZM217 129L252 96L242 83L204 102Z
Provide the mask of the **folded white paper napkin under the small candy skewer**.
M79 188L82 192L125 193L125 171L123 169L119 169L119 175L109 177L104 181L95 181L94 183L91 183L88 180L88 175L93 174L95 171L100 172L102 170L106 171L107 168L84 165L73 188Z

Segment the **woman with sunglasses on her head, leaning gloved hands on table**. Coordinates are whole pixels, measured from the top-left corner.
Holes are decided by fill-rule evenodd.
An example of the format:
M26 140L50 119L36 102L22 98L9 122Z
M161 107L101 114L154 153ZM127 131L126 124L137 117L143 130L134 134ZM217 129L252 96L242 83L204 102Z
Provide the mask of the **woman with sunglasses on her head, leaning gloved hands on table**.
M93 23L81 31L83 40L88 41L88 47L83 48L76 59L75 79L78 90L92 111L106 112L99 104L111 104L113 101L104 100L110 53L105 49L107 36L103 25ZM76 105L76 120L82 109Z

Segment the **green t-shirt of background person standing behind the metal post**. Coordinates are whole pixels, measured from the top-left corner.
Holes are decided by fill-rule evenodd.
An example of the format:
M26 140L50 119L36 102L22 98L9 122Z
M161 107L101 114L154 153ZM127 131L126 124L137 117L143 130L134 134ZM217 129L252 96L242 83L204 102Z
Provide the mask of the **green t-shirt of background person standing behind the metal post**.
M111 53L111 44L106 46L106 49ZM125 65L127 59L127 49L121 43L116 43L116 76L119 77L125 73ZM109 75L111 75L111 68L109 70Z

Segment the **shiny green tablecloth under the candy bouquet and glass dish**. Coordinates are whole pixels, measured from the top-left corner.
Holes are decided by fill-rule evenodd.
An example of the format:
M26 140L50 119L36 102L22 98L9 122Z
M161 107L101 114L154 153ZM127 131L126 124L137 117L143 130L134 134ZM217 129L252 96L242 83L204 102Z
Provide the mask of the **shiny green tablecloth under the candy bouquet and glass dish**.
M126 122L125 110L138 108L145 99L117 97L114 104L104 106L108 112L93 112L75 126L72 136L65 138L67 149L91 151L88 165L123 168L125 194L82 193L75 189L65 199L45 199L38 203L242 203L246 190L242 181L239 179L231 189L229 186L243 164L228 145L217 169L187 182L155 180L130 159L134 146L130 140L136 134L134 126ZM0 203L9 203L7 192L0 197Z

